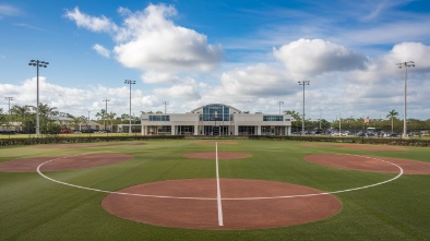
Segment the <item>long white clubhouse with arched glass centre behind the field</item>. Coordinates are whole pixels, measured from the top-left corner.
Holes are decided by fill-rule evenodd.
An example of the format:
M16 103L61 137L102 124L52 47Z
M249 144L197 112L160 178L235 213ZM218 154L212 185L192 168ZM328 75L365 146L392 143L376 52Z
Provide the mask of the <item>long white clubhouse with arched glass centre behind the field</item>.
M290 115L248 113L211 104L187 113L142 113L142 135L290 135Z

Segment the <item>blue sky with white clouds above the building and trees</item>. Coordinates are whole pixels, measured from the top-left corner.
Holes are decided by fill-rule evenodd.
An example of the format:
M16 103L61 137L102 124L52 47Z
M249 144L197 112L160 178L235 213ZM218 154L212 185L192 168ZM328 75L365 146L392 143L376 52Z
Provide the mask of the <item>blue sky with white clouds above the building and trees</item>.
M311 120L403 119L407 70L406 116L427 120L429 26L427 0L0 0L0 108L36 106L34 59L39 101L75 117L130 99L133 116L302 115L304 96Z

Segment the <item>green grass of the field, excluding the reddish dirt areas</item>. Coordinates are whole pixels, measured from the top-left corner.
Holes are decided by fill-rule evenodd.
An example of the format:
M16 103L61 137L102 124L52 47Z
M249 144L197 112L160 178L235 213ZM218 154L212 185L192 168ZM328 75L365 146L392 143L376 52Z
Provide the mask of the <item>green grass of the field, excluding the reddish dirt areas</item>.
M226 140L231 142L231 140ZM120 164L45 172L63 182L116 191L171 179L215 178L215 160L184 153L215 152L200 140L146 141L144 145L88 148L0 147L0 161L19 158L112 152L134 158ZM223 142L223 141L220 141ZM322 191L365 186L396 174L343 170L308 162L311 154L357 154L430 162L430 148L407 152L354 150L302 146L299 142L234 140L218 152L252 157L219 160L220 178L259 179ZM107 193L62 185L37 172L0 172L0 240L430 240L430 176L404 174L395 181L335 194L342 209L333 217L299 226L261 230L193 230L156 227L122 219L100 205Z

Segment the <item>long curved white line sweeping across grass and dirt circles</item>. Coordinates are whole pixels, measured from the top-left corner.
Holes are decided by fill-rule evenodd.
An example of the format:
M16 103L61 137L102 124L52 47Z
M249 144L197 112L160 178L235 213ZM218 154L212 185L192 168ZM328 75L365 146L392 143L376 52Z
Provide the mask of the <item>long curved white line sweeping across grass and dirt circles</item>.
M63 158L68 158L68 157L74 157L74 156L83 156L83 155L88 155L88 154L80 154L80 155L73 155L73 156L65 156L65 157L60 157L60 158L55 158L55 159L50 159L47 160L43 164L40 164L39 166L37 166L37 172L44 177L45 179L48 179L52 182L57 182L59 184L63 184L63 185L69 185L72 188L77 188L77 189L83 189L83 190L88 190L88 191L95 191L95 192L101 192L101 193L109 193L109 194L118 194L118 195L130 195L130 196L140 196L140 197L155 197L155 198L172 198L172 200L201 200L201 201L214 201L214 200L218 200L217 197L195 197L195 196L168 196L168 195L147 195L147 194L139 194L139 193L127 193L127 192L116 192L116 191L107 191L107 190L100 190L100 189L93 189L93 188L87 188L87 186L82 186L82 185L75 185L75 184L71 184L68 182L62 182L52 178L47 177L46 174L44 174L40 171L40 167L43 167L45 164L51 162L53 160L58 160L58 159L63 159ZM344 155L351 155L351 154L344 154ZM378 185L382 185L389 182L392 182L396 179L398 179L399 177L402 177L402 174L404 173L404 170L401 166L390 162L387 160L383 160L383 159L379 159L375 157L368 157L368 156L360 156L360 155L351 155L351 156L358 156L358 157L366 157L366 158L370 158L370 159L375 159L375 160L380 160L383 162L387 162L391 164L395 167L398 168L399 173L392 178L389 179L386 181L382 181L382 182L378 182L374 184L370 184L370 185L365 185L365 186L359 186L359 188L354 188L354 189L346 189L346 190L338 190L338 191L333 191L333 192L321 192L321 193L310 193L310 194L299 194L299 195L284 195L284 196L255 196L255 197L223 197L220 198L219 195L219 200L225 200L225 201L252 201L252 200L276 200L276 198L294 198L294 197L309 197L309 196L319 196L319 195L329 195L329 194L336 194L336 193L345 193L345 192L351 192L351 191L358 191L358 190L363 190L363 189L369 189L369 188L373 188L373 186L378 186Z

